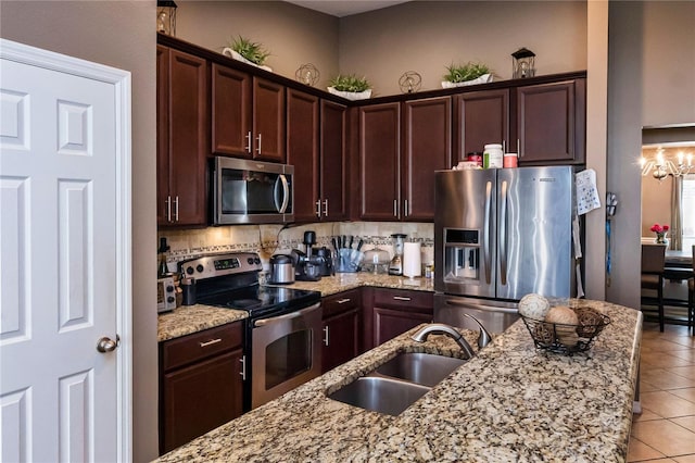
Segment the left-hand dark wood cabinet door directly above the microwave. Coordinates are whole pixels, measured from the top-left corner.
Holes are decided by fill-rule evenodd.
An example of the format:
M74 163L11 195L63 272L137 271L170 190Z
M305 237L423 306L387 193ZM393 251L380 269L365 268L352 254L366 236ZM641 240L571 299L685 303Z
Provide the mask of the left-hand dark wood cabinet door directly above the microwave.
M253 158L251 76L212 66L212 147L215 154Z

